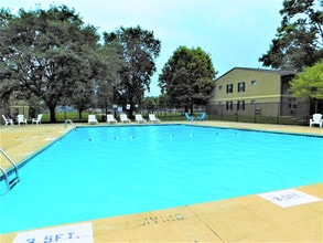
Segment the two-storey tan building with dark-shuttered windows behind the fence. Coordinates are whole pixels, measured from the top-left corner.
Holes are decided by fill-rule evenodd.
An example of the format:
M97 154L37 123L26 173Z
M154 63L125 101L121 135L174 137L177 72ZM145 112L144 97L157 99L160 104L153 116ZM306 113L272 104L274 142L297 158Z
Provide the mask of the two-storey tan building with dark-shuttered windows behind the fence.
M305 115L306 107L289 92L289 82L295 74L290 71L234 67L215 81L209 112L227 115Z

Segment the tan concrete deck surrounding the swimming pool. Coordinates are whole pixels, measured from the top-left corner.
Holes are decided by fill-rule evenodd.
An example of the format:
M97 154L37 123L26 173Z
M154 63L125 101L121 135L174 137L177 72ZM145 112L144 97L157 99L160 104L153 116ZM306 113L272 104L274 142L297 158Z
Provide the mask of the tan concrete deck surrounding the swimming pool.
M168 123L162 122L162 124ZM176 124L187 124L187 122ZM79 124L79 126L83 125ZM101 123L100 125L107 124ZM323 136L323 129L319 127L223 122L198 122L193 125ZM63 124L0 126L1 148L14 161L21 161L60 138L69 129L72 129L69 124L67 128ZM323 151L323 142L313 149ZM2 156L0 158L1 166L8 168L10 166L8 161ZM323 182L300 187L297 190L323 199ZM21 203L23 204L23 201ZM165 210L98 219L90 222L93 223L93 237L96 243L323 242L323 201L281 208L257 194L251 194ZM18 233L22 232L2 234L0 235L0 242L13 242Z

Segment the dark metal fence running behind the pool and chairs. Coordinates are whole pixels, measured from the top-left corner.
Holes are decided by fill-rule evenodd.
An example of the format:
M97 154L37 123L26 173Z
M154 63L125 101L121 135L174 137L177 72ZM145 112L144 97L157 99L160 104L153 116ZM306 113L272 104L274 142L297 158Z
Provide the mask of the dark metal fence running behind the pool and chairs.
M194 115L201 115L206 110L207 120L227 120L227 122L244 122L244 123L262 123L262 124L287 124L287 125L308 125L311 115L314 113L323 114L323 101L317 102L294 102L286 101L281 103L255 103L255 104L216 104L207 105L204 108L194 109ZM184 109L163 109L155 110L136 110L141 113L146 118L150 112L154 112L162 120L175 122L185 120ZM0 108L1 113L1 108ZM58 115L57 115L58 116ZM61 114L57 120L71 118L77 122L87 122L87 113L84 118L78 117L78 113L66 114L62 118ZM100 122L105 122L105 117L98 117ZM44 122L49 122L49 115L44 114Z

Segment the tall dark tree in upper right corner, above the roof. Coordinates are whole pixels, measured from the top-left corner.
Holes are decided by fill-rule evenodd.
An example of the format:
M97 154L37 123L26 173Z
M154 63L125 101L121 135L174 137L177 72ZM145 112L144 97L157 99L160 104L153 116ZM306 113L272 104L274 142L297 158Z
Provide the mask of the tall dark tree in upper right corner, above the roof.
M259 59L263 66L303 71L323 59L323 14L319 0L284 0L281 27L269 51ZM323 1L321 0L321 7Z

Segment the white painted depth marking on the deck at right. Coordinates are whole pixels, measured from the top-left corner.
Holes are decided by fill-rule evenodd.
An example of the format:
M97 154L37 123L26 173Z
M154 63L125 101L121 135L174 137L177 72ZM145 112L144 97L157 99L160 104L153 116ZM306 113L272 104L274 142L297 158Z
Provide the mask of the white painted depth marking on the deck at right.
M310 202L322 201L322 199L314 196L304 193L297 189L288 189L280 191L272 191L258 194L261 198L280 205L281 208L289 208L294 205L301 205Z

